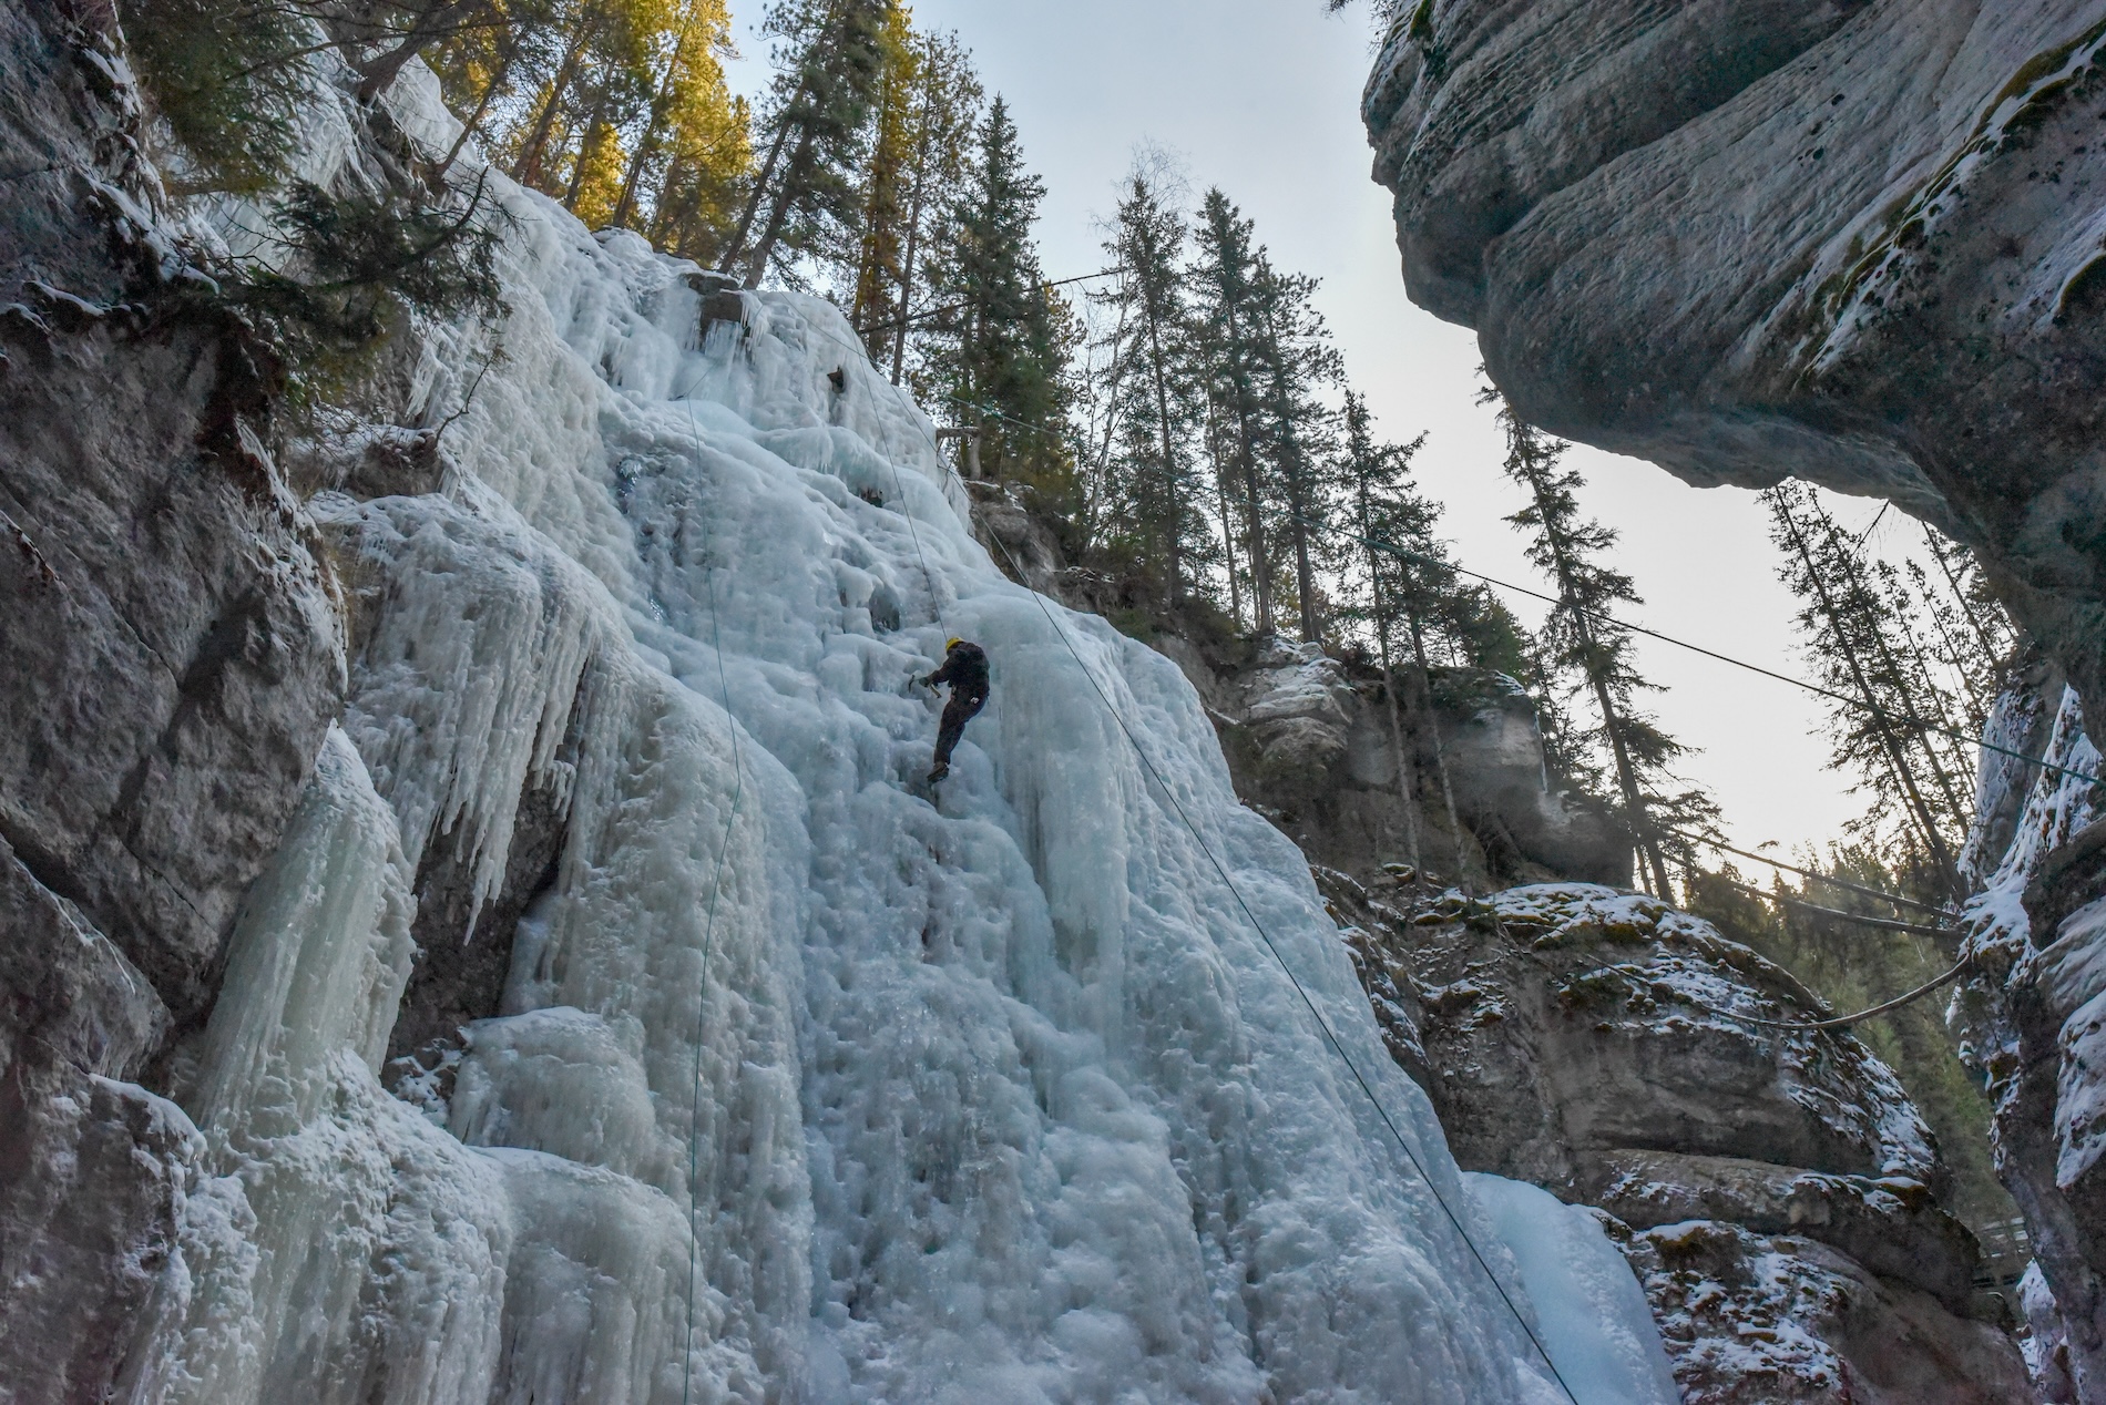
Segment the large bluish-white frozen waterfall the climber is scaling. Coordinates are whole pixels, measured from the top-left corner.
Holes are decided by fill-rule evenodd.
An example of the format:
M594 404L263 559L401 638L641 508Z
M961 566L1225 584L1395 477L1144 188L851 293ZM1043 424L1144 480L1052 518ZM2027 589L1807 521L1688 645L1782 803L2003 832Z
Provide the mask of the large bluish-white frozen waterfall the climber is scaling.
M1436 1192L1554 1346L1651 1361L1632 1283L1514 1268L1548 1220L1464 1192L1184 676L992 567L838 310L703 329L689 265L491 187L503 356L419 369L449 489L310 506L354 701L179 1079L133 1399L1563 1399ZM994 701L931 800L950 634ZM457 843L489 893L529 786L558 878L415 1110L413 874ZM1672 1401L1626 1376L1582 1399Z

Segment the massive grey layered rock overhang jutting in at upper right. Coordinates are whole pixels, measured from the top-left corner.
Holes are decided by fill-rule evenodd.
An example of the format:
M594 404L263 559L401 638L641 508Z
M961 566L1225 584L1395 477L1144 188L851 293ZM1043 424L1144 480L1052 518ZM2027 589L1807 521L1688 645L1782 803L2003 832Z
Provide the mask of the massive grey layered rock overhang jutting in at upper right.
M2106 682L2100 0L1426 0L1365 95L1405 282L1525 415L1982 548Z

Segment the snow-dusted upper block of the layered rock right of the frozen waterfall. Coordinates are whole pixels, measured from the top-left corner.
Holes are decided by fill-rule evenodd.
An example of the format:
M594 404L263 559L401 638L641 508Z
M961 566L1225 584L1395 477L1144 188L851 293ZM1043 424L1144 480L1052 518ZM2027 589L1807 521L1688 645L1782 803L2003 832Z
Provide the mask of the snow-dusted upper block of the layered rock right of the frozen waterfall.
M1586 1199L1611 1154L1737 1156L1940 1178L1893 1072L1843 1032L1775 1030L1820 1003L1710 923L1594 885L1462 895L1394 950L1411 969L1455 1159Z

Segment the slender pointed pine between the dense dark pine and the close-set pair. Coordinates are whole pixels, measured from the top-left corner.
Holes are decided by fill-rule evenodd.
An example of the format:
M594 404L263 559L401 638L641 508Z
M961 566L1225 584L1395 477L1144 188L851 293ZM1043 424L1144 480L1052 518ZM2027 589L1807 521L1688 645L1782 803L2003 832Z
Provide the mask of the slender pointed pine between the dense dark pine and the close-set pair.
M1097 371L1110 409L1106 491L1118 508L1108 537L1146 573L1160 562L1171 605L1198 583L1198 569L1215 554L1192 442L1203 415L1188 375L1184 238L1184 219L1156 181L1135 171L1104 246L1120 270L1106 295L1118 331Z

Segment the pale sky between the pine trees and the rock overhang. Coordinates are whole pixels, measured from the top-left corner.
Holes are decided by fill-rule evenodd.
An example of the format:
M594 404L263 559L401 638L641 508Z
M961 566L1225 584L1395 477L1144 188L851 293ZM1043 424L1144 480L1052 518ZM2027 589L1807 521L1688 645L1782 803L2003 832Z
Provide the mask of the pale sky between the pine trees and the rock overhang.
M737 86L758 86L758 0L735 0ZM1049 278L1104 265L1099 221L1114 183L1150 141L1184 158L1194 198L1221 185L1285 270L1323 280L1316 297L1352 383L1386 438L1428 432L1419 484L1447 506L1464 567L1542 588L1499 518L1521 493L1499 474L1491 407L1476 407L1474 333L1411 305L1388 192L1369 179L1358 99L1371 61L1365 0L1327 17L1320 0L916 0L920 27L954 29L990 93L1009 97L1028 164L1045 179L1038 230ZM1651 463L1575 447L1594 516L1622 533L1615 565L1645 596L1636 624L1803 676L1790 594L1754 493L1691 489ZM1872 499L1834 499L1851 529ZM1889 512L1874 543L1919 529ZM1906 550L1906 548L1904 548ZM1531 626L1542 607L1508 596ZM1666 729L1702 748L1685 775L1725 807L1742 845L1796 849L1841 832L1857 803L1822 769L1809 735L1817 699L1655 640L1641 668Z

